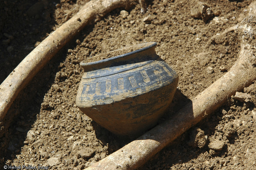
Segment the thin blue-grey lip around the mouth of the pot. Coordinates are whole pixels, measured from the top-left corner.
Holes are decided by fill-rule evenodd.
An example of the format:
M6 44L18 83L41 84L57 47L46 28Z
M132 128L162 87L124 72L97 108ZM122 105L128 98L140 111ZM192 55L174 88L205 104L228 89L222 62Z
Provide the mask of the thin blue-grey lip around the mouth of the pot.
M129 46L129 47L124 47L122 49L118 49L118 50L124 50L126 48L130 48L130 47L136 47L136 46L139 46L139 45L144 45L144 44L149 44L148 46L146 47L143 47L141 49L138 49L138 50L134 50L132 52L128 52L128 53L125 53L125 54L122 54L122 55L117 55L115 57L110 57L110 58L106 58L106 59L103 59L103 60L99 60L99 61L95 61L95 62L88 62L88 63L85 63L84 61L82 61L80 63L80 66L84 67L84 66L92 66L92 65L96 65L96 64L99 64L99 63L105 63L105 62L109 62L109 61L112 61L112 60L116 60L118 58L124 58L126 56L129 56L129 55L133 55L134 53L138 53L138 52L141 52L141 51L144 51L144 50L147 50L147 49L150 49L151 47L154 47L157 45L156 42L144 42L144 43L141 43L141 44L136 44L136 45L132 45L132 46ZM108 53L111 53L111 52L114 52L114 51L118 51L118 50L113 50L113 51L110 51ZM101 54L98 54L98 55L101 55ZM94 57L97 57L98 55L94 56Z

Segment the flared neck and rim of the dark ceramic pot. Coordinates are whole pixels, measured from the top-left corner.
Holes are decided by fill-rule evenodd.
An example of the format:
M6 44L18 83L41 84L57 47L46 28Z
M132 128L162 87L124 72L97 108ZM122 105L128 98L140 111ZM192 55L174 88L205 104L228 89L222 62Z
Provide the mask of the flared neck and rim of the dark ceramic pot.
M156 45L156 42L133 45L131 47L125 47L106 53L106 55L109 56L112 56L115 53L122 53L115 57L96 62L81 62L80 65L84 68L85 72L83 79L104 77L147 65L155 60L161 60L156 54ZM129 48L137 50L125 53Z

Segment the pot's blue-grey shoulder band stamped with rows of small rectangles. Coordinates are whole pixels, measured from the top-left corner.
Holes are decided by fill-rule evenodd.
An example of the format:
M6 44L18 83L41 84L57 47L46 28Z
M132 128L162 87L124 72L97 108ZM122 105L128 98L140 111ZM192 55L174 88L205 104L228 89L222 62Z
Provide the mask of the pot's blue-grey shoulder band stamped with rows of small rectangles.
M164 61L92 79L81 79L76 105L92 107L136 97L178 82L178 74ZM174 86L175 90L176 87Z

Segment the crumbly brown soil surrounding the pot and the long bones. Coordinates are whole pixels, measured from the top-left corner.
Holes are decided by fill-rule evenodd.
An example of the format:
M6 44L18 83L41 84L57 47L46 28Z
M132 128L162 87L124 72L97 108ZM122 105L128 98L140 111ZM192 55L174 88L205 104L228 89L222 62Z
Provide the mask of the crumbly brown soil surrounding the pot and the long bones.
M86 2L0 1L0 82ZM239 38L232 33L214 40L212 36L239 23L252 0L202 2L213 13L207 21L191 16L198 10L197 0L152 0L145 13L137 3L86 26L13 103L7 125L1 124L5 133L0 138L0 169L44 165L52 170L80 170L133 140L110 133L76 107L83 75L79 63L94 55L157 42L157 54L180 77L172 107L159 123L224 75L237 59ZM256 82L242 92L139 169L256 169Z

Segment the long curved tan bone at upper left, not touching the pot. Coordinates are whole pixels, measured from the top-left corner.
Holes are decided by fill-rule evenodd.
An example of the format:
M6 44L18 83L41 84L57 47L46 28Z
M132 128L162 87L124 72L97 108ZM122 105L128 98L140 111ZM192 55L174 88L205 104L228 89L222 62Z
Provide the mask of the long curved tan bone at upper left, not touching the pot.
M43 40L0 85L0 123L19 92L75 34L115 8L130 7L131 2L133 0L91 0Z

